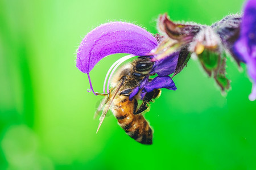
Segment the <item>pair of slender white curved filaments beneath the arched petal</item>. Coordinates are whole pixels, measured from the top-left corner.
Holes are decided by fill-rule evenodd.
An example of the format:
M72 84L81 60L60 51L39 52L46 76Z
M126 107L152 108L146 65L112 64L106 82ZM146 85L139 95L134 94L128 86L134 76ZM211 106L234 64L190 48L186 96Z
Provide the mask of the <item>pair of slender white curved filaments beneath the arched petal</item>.
M112 78L112 75L113 75L114 71L117 69L117 67L118 67L122 62L126 61L127 59L129 59L129 58L131 58L131 57L135 57L135 56L132 55L132 54L130 54L130 55L128 55L128 56L124 56L124 57L122 57L122 58L119 58L119 59L118 59L117 61L115 61L115 62L113 63L113 65L109 68L108 73L107 73L106 76L105 76L105 80L104 80L104 84L103 84L103 93L104 93L104 94L105 94L105 84L106 84L106 80L108 79L108 76L109 76L110 71L111 71L111 70L113 69L113 67L114 67L114 69L112 70L112 73L111 73L110 76L109 76L109 80L108 80L108 88L107 88L108 94L109 94L109 83L110 83L110 79Z

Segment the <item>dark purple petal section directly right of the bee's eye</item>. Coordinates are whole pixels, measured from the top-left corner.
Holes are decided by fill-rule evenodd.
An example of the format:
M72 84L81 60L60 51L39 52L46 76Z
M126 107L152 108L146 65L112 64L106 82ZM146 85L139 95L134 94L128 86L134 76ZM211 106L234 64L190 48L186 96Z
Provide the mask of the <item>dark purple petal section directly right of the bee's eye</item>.
M179 52L172 53L171 56L155 61L155 67L151 73L156 73L160 76L166 76L174 73Z

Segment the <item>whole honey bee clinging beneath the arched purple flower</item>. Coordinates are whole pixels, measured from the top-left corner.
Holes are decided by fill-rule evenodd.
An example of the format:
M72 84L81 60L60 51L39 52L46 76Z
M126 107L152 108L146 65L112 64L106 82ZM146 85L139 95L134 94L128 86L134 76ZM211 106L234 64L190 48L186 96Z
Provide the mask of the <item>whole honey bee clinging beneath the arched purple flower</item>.
M140 85L143 78L151 75L150 71L153 65L154 62L150 61L150 58L139 57L127 63L114 74L111 83L112 88L108 96L102 100L102 103L105 103L105 105L104 107L100 105L96 111L99 112L103 109L98 129L110 109L117 118L118 124L125 130L127 135L139 143L145 145L152 144L152 129L142 113L149 110L150 101L160 96L161 91L160 89L155 89L152 92L142 95L142 91L140 90L131 101L129 100L129 96L133 92L133 89ZM139 107L138 100L142 100L142 104Z

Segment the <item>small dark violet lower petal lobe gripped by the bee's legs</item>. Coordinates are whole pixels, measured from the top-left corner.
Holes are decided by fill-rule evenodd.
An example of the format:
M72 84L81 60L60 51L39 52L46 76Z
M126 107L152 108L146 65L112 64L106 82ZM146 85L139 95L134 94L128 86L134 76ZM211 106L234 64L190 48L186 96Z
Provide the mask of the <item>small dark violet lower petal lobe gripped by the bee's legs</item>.
M144 85L143 91L151 92L156 88L167 88L169 90L177 89L170 76L156 76L151 82L147 82Z

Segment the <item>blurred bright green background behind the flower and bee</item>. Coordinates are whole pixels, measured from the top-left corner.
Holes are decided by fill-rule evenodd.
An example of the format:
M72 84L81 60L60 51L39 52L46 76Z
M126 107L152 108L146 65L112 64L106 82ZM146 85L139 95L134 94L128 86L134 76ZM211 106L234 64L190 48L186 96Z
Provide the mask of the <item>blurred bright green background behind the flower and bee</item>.
M228 59L232 90L221 95L191 60L146 113L154 143L143 146L105 118L76 49L94 27L127 21L156 33L156 19L212 24L241 12L243 0L0 0L0 169L256 169L256 101L246 67ZM106 71L123 55L104 58L90 74L102 91Z

